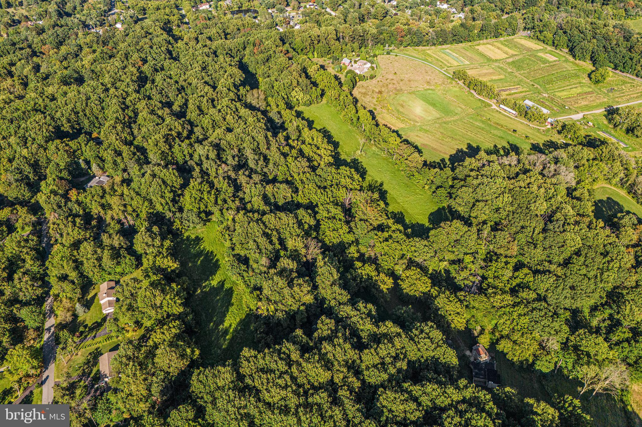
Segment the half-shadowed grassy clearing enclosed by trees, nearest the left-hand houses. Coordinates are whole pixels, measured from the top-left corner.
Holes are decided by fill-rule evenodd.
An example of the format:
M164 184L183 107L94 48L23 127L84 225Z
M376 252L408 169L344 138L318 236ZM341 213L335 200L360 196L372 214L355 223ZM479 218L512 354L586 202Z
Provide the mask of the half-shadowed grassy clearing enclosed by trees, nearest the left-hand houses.
M208 363L236 359L243 348L254 346L250 312L256 300L227 271L226 252L216 221L190 230L178 242L180 266L198 286L189 305L199 324L201 356Z

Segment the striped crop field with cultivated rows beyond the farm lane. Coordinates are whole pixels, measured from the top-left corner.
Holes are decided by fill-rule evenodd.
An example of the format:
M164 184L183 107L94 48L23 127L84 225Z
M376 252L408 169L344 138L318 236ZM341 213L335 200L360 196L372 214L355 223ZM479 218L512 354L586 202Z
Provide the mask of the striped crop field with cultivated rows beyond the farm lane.
M536 102L550 110L551 117L642 99L641 82L614 74L605 83L593 85L588 77L592 65L523 36L399 52L447 72L465 69L471 76L494 83L504 97Z

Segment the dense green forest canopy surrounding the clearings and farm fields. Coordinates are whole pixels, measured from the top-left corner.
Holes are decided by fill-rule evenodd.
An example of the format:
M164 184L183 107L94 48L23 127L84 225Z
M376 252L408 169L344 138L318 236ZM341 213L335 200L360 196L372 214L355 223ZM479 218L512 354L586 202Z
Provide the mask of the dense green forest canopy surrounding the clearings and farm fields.
M595 184L642 196L634 159L568 125L568 145L428 164L311 60L523 26L580 59L642 73L638 35L594 24L616 5L580 2L560 19L576 5L465 4L485 11L482 26L470 15L446 26L350 2L336 17L306 10L300 31L281 33L132 0L123 29L86 31L101 24L98 3L39 3L42 25L4 15L0 40L0 356L35 357L49 286L60 350L105 280L122 278L109 328L140 332L121 344L110 391L88 395L73 378L56 386L74 426L590 424L575 396L544 402L462 378L446 336L464 328L591 391L617 394L598 381L614 372L639 378L642 229L633 215L609 227L593 216ZM496 10L519 13L493 20ZM340 159L295 111L322 101L443 204L446 220L412 232L391 216L358 161ZM94 175L111 179L85 188ZM256 348L214 362L195 339L198 284L176 244L210 220L257 299ZM393 292L401 302L388 312ZM32 381L35 364L17 380Z

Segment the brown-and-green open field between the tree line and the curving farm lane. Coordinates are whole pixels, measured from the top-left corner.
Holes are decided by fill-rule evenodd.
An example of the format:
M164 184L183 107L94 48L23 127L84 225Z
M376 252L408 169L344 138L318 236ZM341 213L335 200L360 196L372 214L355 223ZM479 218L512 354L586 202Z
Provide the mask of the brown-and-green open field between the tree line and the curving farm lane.
M458 150L497 150L557 140L499 113L465 88L426 64L393 55L379 56L374 80L358 83L354 95L377 120L421 147L428 161L449 159ZM460 157L456 157L460 158Z

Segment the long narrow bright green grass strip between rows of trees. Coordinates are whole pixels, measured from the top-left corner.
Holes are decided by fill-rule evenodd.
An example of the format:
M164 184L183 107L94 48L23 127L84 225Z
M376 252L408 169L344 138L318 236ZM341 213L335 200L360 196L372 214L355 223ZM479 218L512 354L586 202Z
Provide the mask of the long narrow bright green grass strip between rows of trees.
M323 102L301 107L300 111L311 120L315 129L338 143L343 159L357 159L363 165L367 170L367 181L376 181L376 186L383 187L390 211L403 213L409 223L429 223L429 214L438 207L431 195L411 182L392 159L383 156L375 147L365 145L363 154L358 154L360 138L357 129L345 123L331 106Z

